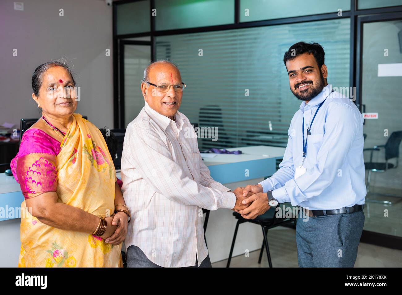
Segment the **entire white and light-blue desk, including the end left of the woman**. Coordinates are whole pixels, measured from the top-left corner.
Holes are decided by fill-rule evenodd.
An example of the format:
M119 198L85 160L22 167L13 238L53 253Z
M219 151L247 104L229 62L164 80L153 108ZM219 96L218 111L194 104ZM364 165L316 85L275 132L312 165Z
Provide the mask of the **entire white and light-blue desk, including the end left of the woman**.
M213 158L203 158L216 181L229 189L256 184L271 176L276 171L276 160L282 159L285 148L275 146L245 146L231 148L229 151L241 150L243 154L216 154ZM117 173L120 178L120 173ZM19 184L11 176L0 173L0 210L1 208L19 208L23 201ZM211 262L228 258L232 243L236 219L233 211L218 209L211 211L208 220L206 238ZM0 216L1 217L1 216ZM20 220L15 217L0 219L0 267L14 267L18 262L21 247L19 239ZM263 236L261 228L245 223L239 227L238 239L233 256L244 254L261 247Z

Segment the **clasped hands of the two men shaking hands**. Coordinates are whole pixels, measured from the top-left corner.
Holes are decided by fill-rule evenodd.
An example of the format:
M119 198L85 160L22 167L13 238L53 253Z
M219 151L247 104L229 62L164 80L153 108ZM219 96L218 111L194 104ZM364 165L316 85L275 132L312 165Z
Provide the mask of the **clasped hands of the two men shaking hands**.
M270 208L267 193L260 184L238 187L232 191L236 196L233 211L240 213L245 219L254 219Z

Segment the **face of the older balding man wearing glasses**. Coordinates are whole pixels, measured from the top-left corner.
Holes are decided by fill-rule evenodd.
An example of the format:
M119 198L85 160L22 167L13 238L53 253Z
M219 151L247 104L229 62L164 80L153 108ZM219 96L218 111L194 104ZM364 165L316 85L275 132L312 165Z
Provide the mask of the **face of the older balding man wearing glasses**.
M182 83L180 72L170 63L156 63L152 65L148 73L148 82L155 85ZM148 105L161 115L174 119L174 114L181 104L183 92L175 92L170 87L168 92L159 92L155 86L147 83L141 84L142 95Z

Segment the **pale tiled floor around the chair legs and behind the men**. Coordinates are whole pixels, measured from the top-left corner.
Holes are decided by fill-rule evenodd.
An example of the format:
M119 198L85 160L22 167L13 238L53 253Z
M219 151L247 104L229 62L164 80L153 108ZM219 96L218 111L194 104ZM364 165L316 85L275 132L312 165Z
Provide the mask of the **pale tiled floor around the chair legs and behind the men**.
M262 240L261 240L262 242ZM279 226L268 233L269 250L273 267L298 267L295 230ZM232 258L230 267L268 267L264 251L261 264L258 264L260 251L250 255ZM226 267L228 260L218 261L212 267ZM355 267L402 267L402 251L360 243Z

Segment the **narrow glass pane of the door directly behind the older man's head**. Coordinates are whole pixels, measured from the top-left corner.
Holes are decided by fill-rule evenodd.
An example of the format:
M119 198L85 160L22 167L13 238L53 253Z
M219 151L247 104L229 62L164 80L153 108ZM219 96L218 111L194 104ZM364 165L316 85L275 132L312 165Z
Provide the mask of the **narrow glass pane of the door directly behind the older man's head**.
M140 84L150 60L150 46L124 45L124 128L137 117L144 106Z

